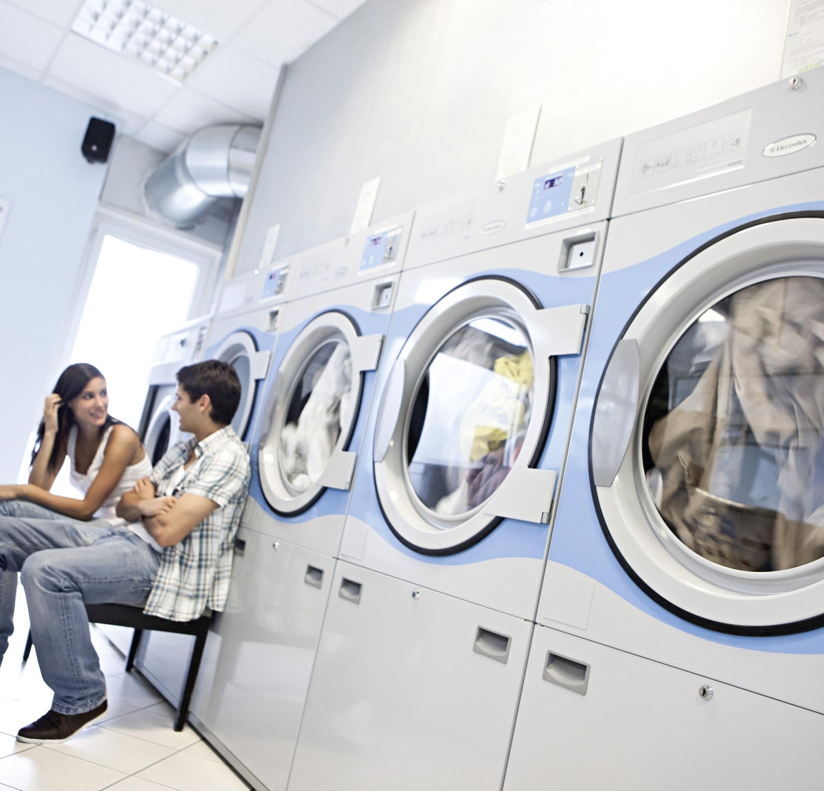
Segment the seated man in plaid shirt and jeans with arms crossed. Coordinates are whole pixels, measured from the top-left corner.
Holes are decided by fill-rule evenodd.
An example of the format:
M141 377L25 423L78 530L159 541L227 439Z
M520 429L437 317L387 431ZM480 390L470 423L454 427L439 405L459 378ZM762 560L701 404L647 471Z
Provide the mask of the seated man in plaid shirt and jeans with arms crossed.
M84 602L143 606L170 620L226 604L250 478L230 425L241 386L234 368L217 360L181 368L177 381L173 408L194 438L124 494L115 524L0 518L0 590L21 572L40 672L54 690L52 708L21 728L18 741L64 742L105 713L105 677ZM7 598L0 595L0 606ZM3 651L11 619L0 612Z

